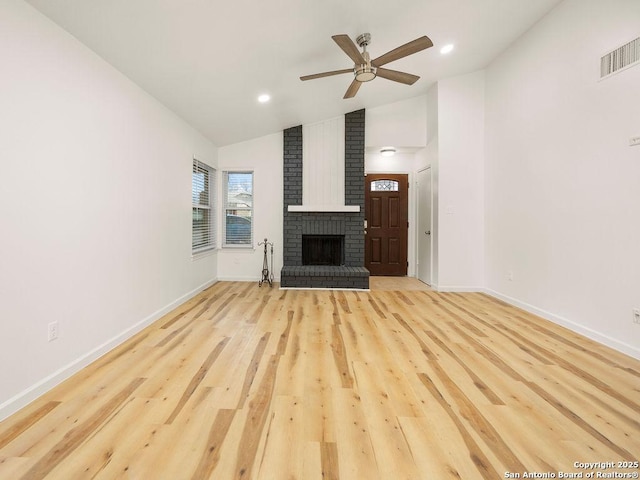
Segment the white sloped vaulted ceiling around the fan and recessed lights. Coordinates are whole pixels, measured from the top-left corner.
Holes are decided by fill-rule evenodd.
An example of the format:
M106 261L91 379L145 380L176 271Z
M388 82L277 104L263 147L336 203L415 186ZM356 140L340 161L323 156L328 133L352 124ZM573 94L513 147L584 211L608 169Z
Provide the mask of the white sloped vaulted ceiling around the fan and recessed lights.
M560 0L27 0L217 146L424 94L485 67ZM342 97L351 68L331 39L370 32L371 57L427 35L434 47L385 65L421 79L383 78ZM440 47L454 43L448 56ZM269 93L271 102L257 97Z

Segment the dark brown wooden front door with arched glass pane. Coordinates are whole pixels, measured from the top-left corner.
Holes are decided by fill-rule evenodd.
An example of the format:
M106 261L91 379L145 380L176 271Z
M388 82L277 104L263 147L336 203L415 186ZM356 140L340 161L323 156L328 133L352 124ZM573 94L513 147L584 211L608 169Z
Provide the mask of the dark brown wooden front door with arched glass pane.
M407 274L408 198L405 174L365 177L364 262L371 275Z

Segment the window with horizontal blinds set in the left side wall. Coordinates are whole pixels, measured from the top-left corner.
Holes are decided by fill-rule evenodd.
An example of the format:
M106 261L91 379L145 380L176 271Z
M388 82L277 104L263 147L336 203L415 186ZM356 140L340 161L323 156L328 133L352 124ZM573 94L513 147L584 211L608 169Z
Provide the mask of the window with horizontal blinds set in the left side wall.
M191 252L199 253L216 246L215 232L216 171L193 159L191 175L191 203L193 205Z

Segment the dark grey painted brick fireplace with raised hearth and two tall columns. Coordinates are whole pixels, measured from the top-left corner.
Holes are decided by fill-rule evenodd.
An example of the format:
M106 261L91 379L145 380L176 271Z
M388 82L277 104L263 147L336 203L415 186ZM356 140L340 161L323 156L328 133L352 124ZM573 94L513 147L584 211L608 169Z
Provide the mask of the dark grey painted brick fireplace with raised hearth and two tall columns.
M364 110L345 115L344 203L358 206L357 212L290 211L289 206L302 205L302 126L284 131L282 287L369 288L369 271L364 267L364 118ZM333 238L334 247L335 239L340 239L340 264L316 260L320 264L305 265L303 237Z

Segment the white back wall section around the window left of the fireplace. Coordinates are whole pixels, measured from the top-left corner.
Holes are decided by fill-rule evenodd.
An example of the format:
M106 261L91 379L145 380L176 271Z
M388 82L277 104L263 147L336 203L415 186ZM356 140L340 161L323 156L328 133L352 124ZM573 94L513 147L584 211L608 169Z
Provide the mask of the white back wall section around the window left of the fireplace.
M263 247L266 237L274 243L273 274L280 281L282 269L283 219L283 138L282 132L221 147L218 156L220 175L223 170L253 170L253 248L222 248L218 251L220 280L255 281L261 278ZM222 202L222 184L218 188ZM222 205L222 203L220 203ZM220 215L219 217L222 217ZM222 218L219 218L222 222ZM222 232L220 223L219 231ZM219 242L222 245L222 239ZM270 256L270 249L269 249ZM271 258L269 258L271 262ZM270 264L271 268L271 264Z

